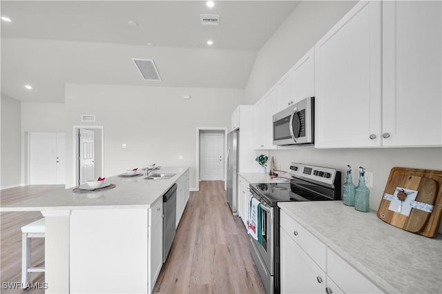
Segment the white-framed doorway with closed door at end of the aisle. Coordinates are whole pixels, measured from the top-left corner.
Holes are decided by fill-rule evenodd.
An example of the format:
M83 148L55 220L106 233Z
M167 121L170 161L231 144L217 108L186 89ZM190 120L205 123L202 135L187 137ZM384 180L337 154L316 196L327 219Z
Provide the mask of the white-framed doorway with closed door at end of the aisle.
M224 181L227 128L197 128L197 189L200 181Z

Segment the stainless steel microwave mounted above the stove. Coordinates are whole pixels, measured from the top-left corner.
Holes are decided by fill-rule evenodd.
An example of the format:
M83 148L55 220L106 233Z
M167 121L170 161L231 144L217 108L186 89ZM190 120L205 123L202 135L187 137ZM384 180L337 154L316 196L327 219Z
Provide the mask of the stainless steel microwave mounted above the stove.
M273 115L273 145L314 144L314 97Z

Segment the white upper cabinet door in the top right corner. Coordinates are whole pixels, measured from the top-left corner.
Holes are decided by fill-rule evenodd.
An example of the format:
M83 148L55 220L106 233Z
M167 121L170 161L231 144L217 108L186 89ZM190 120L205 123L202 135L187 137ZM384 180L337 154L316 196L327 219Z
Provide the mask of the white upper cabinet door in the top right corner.
M384 146L442 145L441 14L441 1L383 1Z

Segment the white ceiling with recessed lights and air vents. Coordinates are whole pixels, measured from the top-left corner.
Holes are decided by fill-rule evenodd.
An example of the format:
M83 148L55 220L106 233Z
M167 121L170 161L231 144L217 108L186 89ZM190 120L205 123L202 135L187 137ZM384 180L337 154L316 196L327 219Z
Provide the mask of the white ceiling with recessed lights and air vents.
M258 50L298 3L1 1L12 19L1 22L1 92L63 102L66 83L245 88ZM201 26L200 14L220 14L220 26ZM162 81L144 81L132 58L154 59Z

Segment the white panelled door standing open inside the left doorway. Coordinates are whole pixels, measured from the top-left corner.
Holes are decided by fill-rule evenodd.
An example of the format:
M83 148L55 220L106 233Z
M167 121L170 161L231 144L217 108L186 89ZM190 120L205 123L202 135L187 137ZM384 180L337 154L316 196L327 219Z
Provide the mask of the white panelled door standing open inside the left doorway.
M95 179L94 131L79 129L79 184Z

